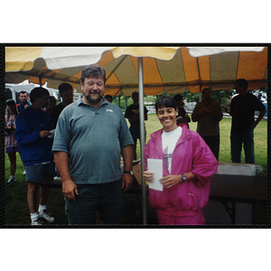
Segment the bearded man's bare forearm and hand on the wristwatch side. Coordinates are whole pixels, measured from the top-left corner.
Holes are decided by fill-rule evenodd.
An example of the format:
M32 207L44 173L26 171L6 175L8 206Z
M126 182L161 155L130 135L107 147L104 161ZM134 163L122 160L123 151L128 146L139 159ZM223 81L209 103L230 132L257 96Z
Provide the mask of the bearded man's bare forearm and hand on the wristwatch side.
M133 169L133 145L126 145L121 149L123 161L124 161L124 171L131 172ZM133 176L128 173L124 173L122 177L122 189L124 191L131 188L133 182Z

